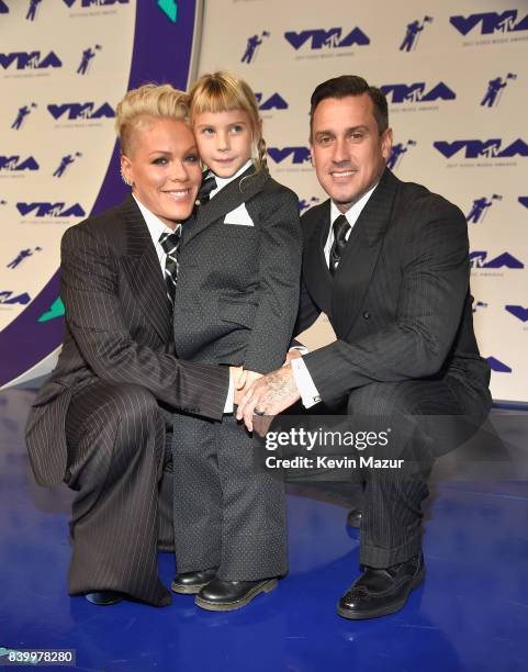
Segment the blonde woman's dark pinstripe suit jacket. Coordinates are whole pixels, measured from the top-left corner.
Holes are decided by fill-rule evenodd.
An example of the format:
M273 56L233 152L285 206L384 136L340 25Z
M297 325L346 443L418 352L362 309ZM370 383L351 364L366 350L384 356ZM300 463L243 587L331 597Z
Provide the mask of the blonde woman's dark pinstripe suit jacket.
M60 269L63 349L26 427L40 484L65 478L70 399L98 380L143 385L175 412L222 417L228 369L175 357L171 306L159 260L132 197L65 233Z

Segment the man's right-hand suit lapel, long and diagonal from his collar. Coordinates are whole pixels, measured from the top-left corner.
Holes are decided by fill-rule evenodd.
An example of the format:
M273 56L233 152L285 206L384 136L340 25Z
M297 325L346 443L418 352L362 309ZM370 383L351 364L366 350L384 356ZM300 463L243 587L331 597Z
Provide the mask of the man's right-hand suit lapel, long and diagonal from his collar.
M334 276L332 323L339 338L353 327L383 246L397 179L385 169L356 222Z

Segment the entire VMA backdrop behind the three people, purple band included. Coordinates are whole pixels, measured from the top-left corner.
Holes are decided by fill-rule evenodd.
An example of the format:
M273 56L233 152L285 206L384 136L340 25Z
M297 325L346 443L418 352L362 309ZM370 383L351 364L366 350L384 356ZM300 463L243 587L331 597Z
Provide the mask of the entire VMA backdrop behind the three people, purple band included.
M0 385L59 345L60 236L124 194L115 103L143 81L187 85L196 4L0 0ZM528 2L207 0L199 71L218 68L258 93L271 171L303 212L324 199L314 87L357 74L385 91L391 168L467 215L493 395L528 401Z

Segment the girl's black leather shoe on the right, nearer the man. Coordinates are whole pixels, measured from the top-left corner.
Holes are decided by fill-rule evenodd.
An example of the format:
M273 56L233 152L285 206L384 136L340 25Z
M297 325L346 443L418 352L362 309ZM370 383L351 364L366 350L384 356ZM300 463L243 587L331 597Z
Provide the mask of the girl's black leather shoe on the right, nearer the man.
M259 593L269 593L277 586L277 579L259 581L222 581L213 579L196 595L195 603L211 612L232 612L249 604Z

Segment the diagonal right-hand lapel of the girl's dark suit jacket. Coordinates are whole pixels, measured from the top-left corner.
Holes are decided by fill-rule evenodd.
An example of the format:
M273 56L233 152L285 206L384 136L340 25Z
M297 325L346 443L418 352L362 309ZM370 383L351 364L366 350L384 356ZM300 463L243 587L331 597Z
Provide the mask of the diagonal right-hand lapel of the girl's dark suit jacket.
M252 166L249 167L243 175L224 187L211 201L198 208L194 221L183 227L182 244L187 245L189 240L198 236L213 222L224 217L228 212L248 201L262 189L268 179L269 172L266 169L255 172Z

